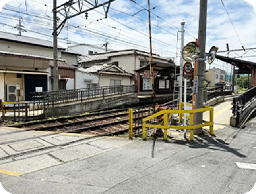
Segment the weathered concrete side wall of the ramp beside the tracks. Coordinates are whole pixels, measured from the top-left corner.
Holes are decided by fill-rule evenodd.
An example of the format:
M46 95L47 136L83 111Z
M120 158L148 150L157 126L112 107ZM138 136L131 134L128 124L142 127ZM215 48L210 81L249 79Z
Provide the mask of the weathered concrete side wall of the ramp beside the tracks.
M138 103L137 94L124 95L119 97L111 97L99 99L97 101L87 101L84 103L68 104L62 106L54 106L45 108L45 117L66 116L72 114L81 114L88 111L115 108L120 105Z

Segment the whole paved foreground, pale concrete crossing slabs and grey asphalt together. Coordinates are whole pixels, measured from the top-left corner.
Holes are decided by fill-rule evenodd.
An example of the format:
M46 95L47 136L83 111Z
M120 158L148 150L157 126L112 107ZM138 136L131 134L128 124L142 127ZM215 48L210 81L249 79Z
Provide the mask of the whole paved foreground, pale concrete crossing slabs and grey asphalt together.
M250 193L255 169L241 164L256 160L254 125L256 120L243 130L225 127L215 131L216 137L195 137L194 143L155 145L152 140L102 137L58 146L87 136L4 128L0 184L12 194ZM37 138L8 143L32 136Z

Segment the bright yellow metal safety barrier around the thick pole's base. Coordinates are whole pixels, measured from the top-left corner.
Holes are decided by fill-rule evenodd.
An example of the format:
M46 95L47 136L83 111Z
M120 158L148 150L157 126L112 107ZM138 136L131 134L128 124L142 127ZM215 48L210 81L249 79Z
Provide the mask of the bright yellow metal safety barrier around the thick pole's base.
M199 108L199 109L194 109L194 110L182 110L183 109L184 103L180 103L180 110L161 110L151 116L148 116L144 119L142 119L142 138L144 140L147 139L146 135L146 128L157 128L157 129L164 129L164 140L167 140L167 129L190 129L190 141L194 140L194 129L200 128L200 127L206 127L210 126L210 134L213 135L213 107L204 107L204 108ZM187 105L191 105L188 103ZM194 114L197 112L210 112L210 121L203 121L202 124L194 125ZM169 126L168 125L168 114L179 114L179 120L182 120L182 116L184 114L189 114L189 119L190 119L190 125L189 126ZM163 115L163 125L155 125L155 124L147 124L146 122L150 119L157 118L158 116Z

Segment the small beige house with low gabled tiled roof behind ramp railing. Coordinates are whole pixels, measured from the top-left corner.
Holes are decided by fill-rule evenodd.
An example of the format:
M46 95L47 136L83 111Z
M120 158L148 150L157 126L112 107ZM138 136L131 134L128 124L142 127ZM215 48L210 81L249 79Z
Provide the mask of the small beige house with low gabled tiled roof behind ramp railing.
M113 64L93 65L84 70L98 76L98 86L134 85L135 75Z

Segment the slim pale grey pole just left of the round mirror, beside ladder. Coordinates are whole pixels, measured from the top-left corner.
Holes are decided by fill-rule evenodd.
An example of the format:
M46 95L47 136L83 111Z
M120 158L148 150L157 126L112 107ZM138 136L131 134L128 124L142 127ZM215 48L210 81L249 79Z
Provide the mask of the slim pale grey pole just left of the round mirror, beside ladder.
M180 91L179 91L179 99L182 102L182 87L183 87L183 58L182 58L182 49L184 47L184 34L185 34L185 22L181 22L181 44L180 44Z

